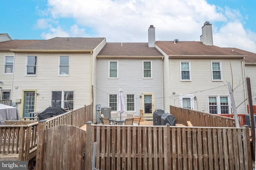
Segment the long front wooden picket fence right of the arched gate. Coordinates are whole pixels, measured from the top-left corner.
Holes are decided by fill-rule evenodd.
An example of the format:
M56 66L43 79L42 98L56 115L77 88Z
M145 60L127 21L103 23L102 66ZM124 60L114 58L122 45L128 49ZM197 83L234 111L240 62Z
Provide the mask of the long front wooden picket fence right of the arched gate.
M252 170L249 128L93 125L86 170Z

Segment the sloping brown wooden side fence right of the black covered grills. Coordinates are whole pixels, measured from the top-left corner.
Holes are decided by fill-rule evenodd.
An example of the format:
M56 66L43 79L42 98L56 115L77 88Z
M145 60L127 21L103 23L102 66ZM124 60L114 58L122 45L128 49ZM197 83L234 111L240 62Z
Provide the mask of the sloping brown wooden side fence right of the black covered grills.
M200 127L236 127L234 118L191 109L170 106L170 114L174 115L176 123L183 125L186 125L187 121L190 121L193 126Z

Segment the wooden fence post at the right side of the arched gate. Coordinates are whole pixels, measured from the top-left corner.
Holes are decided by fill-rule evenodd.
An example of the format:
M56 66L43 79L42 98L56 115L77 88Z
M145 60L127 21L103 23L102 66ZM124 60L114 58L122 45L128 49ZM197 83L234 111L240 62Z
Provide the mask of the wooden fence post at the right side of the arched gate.
M92 138L92 121L86 123L86 139L85 139L85 169L92 169L92 155L91 155L91 138Z

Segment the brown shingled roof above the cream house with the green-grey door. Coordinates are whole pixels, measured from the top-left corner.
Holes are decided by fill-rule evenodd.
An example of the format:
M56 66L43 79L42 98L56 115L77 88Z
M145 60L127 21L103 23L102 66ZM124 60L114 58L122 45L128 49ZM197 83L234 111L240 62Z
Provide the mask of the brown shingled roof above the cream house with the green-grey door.
M55 37L13 49L13 51L93 51L105 38Z

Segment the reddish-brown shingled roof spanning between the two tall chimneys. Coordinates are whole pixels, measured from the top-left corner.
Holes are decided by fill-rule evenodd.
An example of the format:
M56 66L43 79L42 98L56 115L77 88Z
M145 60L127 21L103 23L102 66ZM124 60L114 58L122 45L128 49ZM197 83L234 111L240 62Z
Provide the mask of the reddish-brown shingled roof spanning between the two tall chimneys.
M214 45L204 45L200 41L156 41L156 45L169 57L178 55L223 55L240 56L241 54L228 48L221 48ZM242 55L241 55L242 56Z

